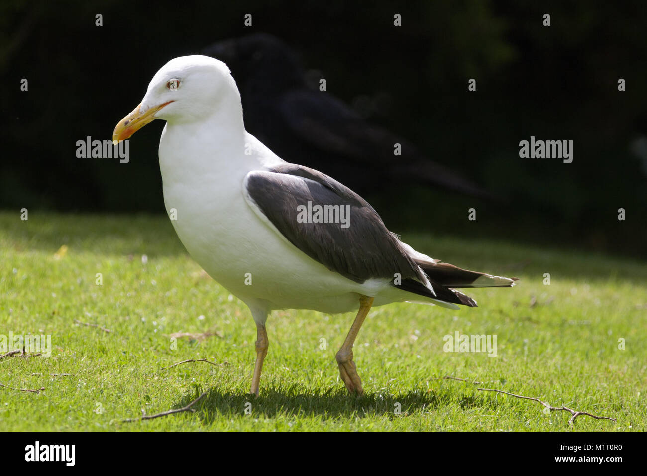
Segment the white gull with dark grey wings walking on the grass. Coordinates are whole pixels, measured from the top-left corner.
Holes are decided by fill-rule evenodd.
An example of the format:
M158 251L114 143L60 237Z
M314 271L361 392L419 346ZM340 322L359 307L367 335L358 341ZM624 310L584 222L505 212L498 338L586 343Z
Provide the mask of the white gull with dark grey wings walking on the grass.
M256 323L251 394L259 395L272 310L358 309L335 358L347 390L362 394L353 343L372 306L474 307L458 288L515 284L516 278L418 253L353 190L283 161L245 130L236 82L219 60L192 55L166 63L117 124L113 142L155 119L166 120L159 163L175 232L206 273L247 304Z

